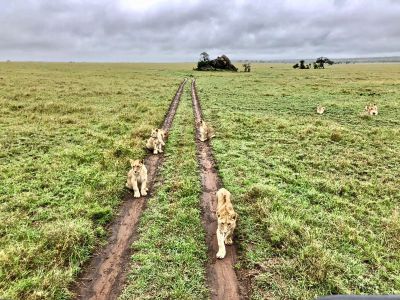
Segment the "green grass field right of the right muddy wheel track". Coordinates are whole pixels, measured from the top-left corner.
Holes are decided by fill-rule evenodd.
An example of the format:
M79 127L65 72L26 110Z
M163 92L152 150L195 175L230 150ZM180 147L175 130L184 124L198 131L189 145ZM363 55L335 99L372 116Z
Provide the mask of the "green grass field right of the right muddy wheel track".
M271 67L196 74L251 297L400 293L399 66Z

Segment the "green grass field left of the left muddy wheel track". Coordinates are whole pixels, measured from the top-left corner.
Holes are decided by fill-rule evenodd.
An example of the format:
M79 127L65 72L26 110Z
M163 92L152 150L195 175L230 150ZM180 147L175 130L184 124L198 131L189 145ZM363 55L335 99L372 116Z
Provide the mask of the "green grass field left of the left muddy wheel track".
M181 79L155 64L0 64L1 299L70 297Z

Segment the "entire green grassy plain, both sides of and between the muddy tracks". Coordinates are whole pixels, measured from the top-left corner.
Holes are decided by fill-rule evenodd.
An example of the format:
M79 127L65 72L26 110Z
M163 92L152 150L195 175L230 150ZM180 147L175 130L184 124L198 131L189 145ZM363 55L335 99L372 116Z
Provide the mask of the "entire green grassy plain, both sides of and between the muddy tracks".
M193 64L0 63L0 299L70 299L184 77L239 214L251 299L400 293L400 65L251 73ZM377 116L363 114L376 103ZM317 105L326 107L316 114ZM189 84L121 299L206 299Z

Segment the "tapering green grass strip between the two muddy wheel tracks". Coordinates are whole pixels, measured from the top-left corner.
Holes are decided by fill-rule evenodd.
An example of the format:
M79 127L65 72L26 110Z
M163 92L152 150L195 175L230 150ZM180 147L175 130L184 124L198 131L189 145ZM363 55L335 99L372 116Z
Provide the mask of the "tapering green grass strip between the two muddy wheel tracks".
M208 295L189 86L166 144L162 185L140 220L140 238L133 244L133 268L121 300L206 299Z

